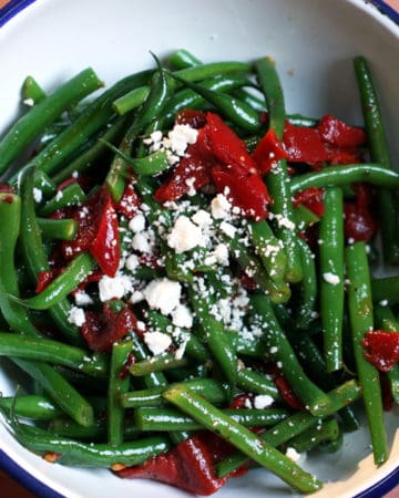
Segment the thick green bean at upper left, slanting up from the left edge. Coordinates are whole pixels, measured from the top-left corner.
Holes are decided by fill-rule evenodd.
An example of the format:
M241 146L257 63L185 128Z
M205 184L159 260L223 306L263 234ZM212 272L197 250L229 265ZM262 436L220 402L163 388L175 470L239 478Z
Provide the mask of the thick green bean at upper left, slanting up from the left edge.
M4 173L23 148L65 108L100 86L101 81L89 68L31 107L0 142L0 174Z

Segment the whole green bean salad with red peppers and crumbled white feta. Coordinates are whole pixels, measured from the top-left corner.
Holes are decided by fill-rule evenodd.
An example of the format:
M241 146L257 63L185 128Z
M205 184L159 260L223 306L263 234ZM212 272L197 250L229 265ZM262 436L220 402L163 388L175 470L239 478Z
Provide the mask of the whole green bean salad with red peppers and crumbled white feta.
M0 354L27 377L0 408L23 446L194 495L254 466L309 494L301 456L342 450L361 409L383 465L399 278L374 266L399 262L399 175L354 68L364 126L287 114L270 58L154 55L94 96L92 69L25 79L0 142Z

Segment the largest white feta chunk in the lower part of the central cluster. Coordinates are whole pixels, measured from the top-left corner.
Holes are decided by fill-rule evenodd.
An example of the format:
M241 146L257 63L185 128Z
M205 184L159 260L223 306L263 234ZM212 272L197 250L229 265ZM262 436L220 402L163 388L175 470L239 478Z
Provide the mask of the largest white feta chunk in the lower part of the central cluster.
M150 308L163 314L171 313L180 304L181 293L180 282L166 278L152 280L143 291Z

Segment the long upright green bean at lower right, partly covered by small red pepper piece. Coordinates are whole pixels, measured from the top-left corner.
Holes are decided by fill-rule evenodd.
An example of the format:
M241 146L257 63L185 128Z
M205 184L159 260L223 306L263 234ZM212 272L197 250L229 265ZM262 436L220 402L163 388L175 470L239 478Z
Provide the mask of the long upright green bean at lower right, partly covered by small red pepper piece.
M364 242L346 249L346 266L349 279L348 309L352 336L352 349L362 388L362 400L369 425L374 459L380 466L388 458L387 435L383 427L383 409L378 370L364 355L361 341L367 331L374 330L370 273Z

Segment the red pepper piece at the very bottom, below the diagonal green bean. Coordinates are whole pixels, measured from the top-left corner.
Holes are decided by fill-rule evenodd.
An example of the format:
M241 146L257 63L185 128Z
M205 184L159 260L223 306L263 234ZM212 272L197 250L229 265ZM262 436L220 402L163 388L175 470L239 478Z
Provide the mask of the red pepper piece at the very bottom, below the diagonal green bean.
M154 479L203 496L217 491L228 478L216 477L213 457L197 434L166 454L152 457L142 465L119 470L117 475L125 478Z

